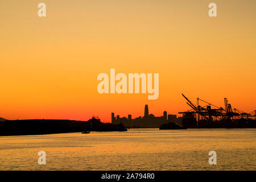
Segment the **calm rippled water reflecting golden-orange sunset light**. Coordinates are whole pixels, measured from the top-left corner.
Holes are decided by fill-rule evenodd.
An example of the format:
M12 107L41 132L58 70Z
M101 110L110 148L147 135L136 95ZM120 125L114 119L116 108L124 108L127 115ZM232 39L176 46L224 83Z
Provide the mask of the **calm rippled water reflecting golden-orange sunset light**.
M217 152L217 165L208 163ZM46 152L46 165L38 152ZM0 170L255 170L255 129L0 137Z

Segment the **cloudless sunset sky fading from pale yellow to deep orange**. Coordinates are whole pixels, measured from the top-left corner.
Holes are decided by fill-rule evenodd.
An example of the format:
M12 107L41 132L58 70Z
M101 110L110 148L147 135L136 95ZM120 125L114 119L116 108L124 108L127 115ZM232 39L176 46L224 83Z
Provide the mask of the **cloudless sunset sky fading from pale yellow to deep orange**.
M143 115L145 104L177 114L189 109L181 93L255 110L255 22L254 0L0 1L0 117L110 121ZM99 94L110 68L159 73L158 100Z

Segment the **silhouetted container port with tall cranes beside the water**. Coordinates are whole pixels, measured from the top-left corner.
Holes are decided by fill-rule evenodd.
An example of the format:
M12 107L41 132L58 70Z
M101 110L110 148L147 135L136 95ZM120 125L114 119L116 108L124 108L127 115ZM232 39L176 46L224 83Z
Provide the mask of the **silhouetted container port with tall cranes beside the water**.
M184 94L190 110L179 112L183 114L182 126L187 128L225 128L243 129L256 128L256 110L246 113L238 109L232 109L228 98L224 98L225 107L218 107L207 101L197 98L197 104L193 104ZM201 106L203 104L204 106Z

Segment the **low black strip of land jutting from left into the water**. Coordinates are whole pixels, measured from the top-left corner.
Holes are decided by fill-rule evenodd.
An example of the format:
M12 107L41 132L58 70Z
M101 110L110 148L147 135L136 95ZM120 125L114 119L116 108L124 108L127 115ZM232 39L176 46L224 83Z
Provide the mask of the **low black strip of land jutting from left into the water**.
M0 136L44 135L83 131L127 131L122 124L102 123L98 118L88 121L64 119L26 119L0 121Z

